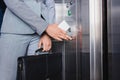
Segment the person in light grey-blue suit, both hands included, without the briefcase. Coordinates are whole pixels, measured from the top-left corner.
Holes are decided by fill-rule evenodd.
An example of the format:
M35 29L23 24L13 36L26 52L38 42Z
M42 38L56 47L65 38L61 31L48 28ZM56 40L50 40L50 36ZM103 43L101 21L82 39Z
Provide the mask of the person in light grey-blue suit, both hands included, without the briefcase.
M7 8L0 37L0 80L16 80L17 58L43 46L51 49L50 37L71 40L55 24L54 0L4 0ZM41 17L43 16L43 18Z

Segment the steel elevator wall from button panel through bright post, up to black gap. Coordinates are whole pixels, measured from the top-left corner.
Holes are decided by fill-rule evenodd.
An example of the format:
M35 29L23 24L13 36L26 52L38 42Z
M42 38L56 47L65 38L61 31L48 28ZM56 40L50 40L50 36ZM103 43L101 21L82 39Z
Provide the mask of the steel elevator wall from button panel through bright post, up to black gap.
M62 42L60 48L63 80L103 80L102 1L55 1L57 23L66 20L77 29L76 38Z

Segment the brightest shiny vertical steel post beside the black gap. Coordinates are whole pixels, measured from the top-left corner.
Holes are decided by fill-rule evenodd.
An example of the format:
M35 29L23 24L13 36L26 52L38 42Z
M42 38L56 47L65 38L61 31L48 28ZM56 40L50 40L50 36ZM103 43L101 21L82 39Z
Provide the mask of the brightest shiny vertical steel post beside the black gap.
M102 0L89 0L90 80L103 80Z

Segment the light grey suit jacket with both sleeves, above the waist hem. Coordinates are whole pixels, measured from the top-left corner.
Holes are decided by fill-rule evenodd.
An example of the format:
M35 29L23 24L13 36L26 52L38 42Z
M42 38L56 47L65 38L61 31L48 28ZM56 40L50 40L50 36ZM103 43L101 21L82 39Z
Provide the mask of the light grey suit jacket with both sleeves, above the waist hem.
M1 33L32 34L37 32L41 35L49 24L54 23L54 0L40 0L40 4L37 4L36 7L33 4L29 5L29 2L26 4L26 1L36 0L4 0L7 9ZM34 9L38 10L38 14ZM41 18L41 14L45 20Z

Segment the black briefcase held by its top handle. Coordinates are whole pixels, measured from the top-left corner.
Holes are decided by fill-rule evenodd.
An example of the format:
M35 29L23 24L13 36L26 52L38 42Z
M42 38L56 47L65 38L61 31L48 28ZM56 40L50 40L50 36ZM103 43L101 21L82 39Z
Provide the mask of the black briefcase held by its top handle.
M62 54L19 57L17 80L62 80Z

